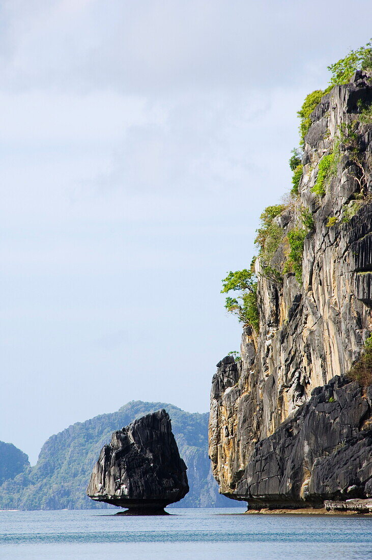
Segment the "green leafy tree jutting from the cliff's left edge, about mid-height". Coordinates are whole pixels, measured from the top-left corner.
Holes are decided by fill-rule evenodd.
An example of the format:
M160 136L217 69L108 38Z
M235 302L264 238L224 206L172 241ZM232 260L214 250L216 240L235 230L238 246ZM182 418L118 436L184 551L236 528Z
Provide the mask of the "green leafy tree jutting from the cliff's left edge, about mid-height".
M238 292L236 298L227 297L225 308L236 315L241 323L248 323L258 332L257 280L252 270L229 272L224 278L221 293Z

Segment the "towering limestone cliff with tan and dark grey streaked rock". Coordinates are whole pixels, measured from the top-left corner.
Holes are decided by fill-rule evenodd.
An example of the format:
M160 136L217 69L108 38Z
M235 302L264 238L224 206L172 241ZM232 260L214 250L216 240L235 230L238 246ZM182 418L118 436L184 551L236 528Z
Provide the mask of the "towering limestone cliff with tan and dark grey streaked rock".
M244 326L242 360L224 358L213 377L214 476L220 492L252 506L372 495L371 394L344 379L372 330L372 125L359 121L371 102L370 76L356 72L313 111L299 197L275 218L282 242L271 265L282 282L257 260L259 332ZM319 160L336 151L321 197ZM283 265L304 209L313 223L301 284Z

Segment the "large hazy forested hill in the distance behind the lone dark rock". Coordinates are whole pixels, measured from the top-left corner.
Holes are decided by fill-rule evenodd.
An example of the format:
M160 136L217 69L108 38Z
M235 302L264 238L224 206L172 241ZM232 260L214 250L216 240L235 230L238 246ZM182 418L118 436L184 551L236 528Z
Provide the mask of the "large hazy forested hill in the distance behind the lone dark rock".
M0 509L50 510L110 507L85 495L93 465L111 433L134 419L165 408L172 420L180 455L188 466L190 492L178 507L232 507L220 496L208 458L209 414L189 413L166 403L132 401L117 412L77 422L51 436L39 460L0 486ZM238 504L237 504L238 505Z

